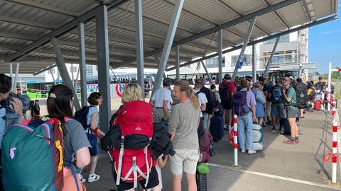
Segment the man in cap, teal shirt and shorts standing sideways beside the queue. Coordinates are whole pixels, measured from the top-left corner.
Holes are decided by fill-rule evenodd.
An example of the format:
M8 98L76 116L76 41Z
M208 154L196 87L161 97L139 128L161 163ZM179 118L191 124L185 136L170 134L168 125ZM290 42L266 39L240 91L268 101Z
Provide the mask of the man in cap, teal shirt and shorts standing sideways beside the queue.
M288 118L290 129L291 129L291 138L283 141L285 144L298 144L298 127L296 124L296 117L298 113L297 101L296 101L296 92L293 86L290 85L289 77L284 77L283 81L283 100L284 106L286 108L286 117Z

